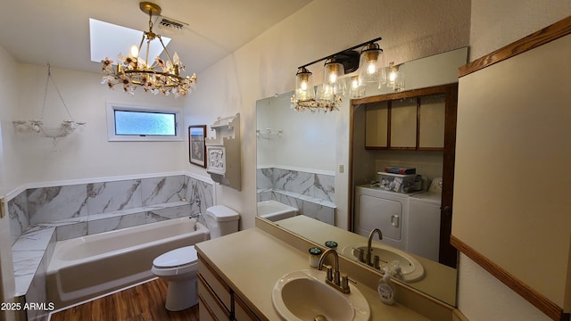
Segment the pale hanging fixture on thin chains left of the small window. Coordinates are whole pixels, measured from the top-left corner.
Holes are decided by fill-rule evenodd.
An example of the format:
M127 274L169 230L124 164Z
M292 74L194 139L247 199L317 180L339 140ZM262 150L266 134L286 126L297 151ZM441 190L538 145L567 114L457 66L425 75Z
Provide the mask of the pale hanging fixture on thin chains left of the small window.
M62 101L65 111L67 111L70 120L62 120L62 123L55 126L48 126L44 124L44 111L46 111L46 96L47 96L47 86L49 82L52 81L55 91ZM57 138L65 137L73 133L79 126L84 126L85 122L76 122L73 120L70 114L68 106L63 101L62 94L60 90L55 85L54 78L52 78L52 71L49 63L47 64L47 78L46 78L46 89L44 91L44 102L42 103L42 110L40 112L40 118L34 120L14 120L13 125L16 129L28 129L34 135L40 137L52 138L54 140L54 148L57 146Z

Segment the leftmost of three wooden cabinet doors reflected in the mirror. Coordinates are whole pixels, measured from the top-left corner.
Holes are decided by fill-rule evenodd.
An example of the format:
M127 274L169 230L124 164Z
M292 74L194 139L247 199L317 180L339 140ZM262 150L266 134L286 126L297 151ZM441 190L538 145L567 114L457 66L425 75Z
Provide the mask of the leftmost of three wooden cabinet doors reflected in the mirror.
M388 103L368 104L365 117L365 147L386 148L388 146Z

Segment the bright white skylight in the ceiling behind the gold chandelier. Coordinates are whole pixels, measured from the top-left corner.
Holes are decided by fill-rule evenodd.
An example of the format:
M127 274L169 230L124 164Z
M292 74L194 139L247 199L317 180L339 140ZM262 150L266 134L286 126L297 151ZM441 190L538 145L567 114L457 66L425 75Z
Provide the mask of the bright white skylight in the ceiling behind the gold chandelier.
M101 62L106 57L109 57L117 63L119 54L127 55L130 53L131 45L137 45L138 47L143 37L143 31L89 18L89 37L92 62ZM169 45L170 37L161 36L161 39L165 46ZM146 43L141 48L140 56L145 58L145 53ZM152 41L149 50L149 62L152 62L161 53L161 43Z

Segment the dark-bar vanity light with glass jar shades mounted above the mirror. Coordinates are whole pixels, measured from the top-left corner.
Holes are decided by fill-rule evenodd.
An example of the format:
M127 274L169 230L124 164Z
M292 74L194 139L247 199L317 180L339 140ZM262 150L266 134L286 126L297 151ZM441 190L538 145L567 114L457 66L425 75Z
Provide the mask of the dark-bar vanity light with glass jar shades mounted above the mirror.
M354 49L364 46L363 51L368 53L368 62L373 63L374 67L377 68L377 66L382 66L383 63L382 55L380 54L383 50L376 44L381 39L381 37L377 37L363 44L354 45L339 53L331 54L315 62L298 67L295 74L295 93L291 99L291 107L295 111L338 111L339 104L343 101L342 97L347 94L346 79L343 76L360 68L359 58L361 54ZM321 61L326 61L323 83L319 86L318 95L316 95L312 74L306 67ZM379 71L377 74L383 74L385 66L379 68L383 71ZM355 84L357 86L360 86L359 79L359 77L356 78L357 83ZM353 98L357 98L355 95L358 94L354 94L355 92L360 92L361 95L364 95L364 89L353 88L353 82L349 92Z

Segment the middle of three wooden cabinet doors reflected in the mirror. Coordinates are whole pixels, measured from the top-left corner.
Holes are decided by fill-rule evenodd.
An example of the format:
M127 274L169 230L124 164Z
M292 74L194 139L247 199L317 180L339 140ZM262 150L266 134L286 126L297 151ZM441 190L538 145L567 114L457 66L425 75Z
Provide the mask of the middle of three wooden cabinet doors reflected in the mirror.
M392 149L417 148L417 99L406 98L391 102Z

